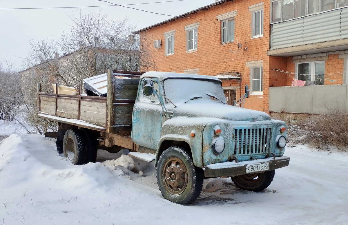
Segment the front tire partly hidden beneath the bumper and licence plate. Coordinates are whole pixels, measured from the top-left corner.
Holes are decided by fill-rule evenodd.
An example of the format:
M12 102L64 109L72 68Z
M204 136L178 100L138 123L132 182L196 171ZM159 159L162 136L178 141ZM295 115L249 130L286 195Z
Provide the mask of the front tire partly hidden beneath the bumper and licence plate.
M247 191L263 191L268 188L274 178L275 170L231 177L237 188Z

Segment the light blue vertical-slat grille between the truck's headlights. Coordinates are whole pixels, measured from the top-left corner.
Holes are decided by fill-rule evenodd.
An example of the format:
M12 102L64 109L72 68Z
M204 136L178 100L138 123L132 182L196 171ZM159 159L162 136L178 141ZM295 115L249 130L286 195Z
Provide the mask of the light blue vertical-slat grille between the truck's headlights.
M235 155L270 151L271 128L237 128L234 135Z

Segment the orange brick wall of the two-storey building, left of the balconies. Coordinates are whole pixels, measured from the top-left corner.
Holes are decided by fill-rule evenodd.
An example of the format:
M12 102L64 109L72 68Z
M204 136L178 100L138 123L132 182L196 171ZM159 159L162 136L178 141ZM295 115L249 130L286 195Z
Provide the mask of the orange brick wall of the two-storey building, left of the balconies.
M249 12L248 7L260 2L264 2L263 37L251 39L252 12ZM237 10L235 41L221 44L221 23L217 21L216 16L234 10ZM244 85L250 85L250 67L246 67L246 62L263 60L263 84L268 87L269 10L269 1L236 0L191 14L189 17L194 19L180 18L149 29L146 35L149 35L149 41L152 42L150 50L155 58L157 70L183 73L185 69L199 68L199 74L212 76L238 72L241 74L241 81L223 81L223 86L242 86L242 94L244 94ZM187 53L185 26L197 22L199 22L197 51ZM174 29L176 32L174 55L165 56L164 33ZM242 44L239 51L237 39ZM152 47L155 40L161 40L162 48ZM247 49L244 50L246 47ZM239 97L240 91L237 90L237 100ZM266 105L262 95L251 95L244 107L267 111Z

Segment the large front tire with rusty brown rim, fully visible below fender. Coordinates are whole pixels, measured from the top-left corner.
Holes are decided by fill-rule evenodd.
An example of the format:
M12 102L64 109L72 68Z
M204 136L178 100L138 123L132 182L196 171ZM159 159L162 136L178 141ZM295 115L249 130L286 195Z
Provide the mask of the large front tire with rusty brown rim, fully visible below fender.
M202 190L203 178L203 169L193 165L191 157L181 147L169 147L159 157L157 184L169 201L182 205L195 201Z

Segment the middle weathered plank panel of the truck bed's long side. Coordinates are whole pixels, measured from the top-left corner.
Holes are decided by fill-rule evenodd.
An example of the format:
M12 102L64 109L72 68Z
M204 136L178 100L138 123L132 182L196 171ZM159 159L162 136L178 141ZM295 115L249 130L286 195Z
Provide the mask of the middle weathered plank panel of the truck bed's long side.
M76 98L58 98L57 116L78 119L79 100Z

